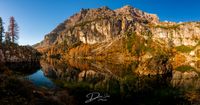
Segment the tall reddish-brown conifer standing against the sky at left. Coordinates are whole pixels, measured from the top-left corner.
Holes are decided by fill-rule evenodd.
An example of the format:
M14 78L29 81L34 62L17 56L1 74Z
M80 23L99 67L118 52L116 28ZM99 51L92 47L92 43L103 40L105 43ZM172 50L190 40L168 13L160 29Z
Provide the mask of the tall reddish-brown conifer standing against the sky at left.
M18 40L19 36L18 36L18 25L15 21L15 18L12 16L10 17L10 24L8 26L8 32L11 38L11 42L12 43L16 43L16 41Z

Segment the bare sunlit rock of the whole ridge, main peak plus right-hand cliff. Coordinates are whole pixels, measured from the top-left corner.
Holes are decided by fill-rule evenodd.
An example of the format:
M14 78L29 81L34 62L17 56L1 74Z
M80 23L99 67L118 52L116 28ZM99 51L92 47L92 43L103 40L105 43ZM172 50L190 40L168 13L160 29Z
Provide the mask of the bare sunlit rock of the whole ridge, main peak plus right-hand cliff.
M96 44L125 37L127 31L169 46L195 46L200 39L200 23L160 22L155 14L131 6L111 10L108 7L82 9L59 24L34 47L38 50L65 42Z

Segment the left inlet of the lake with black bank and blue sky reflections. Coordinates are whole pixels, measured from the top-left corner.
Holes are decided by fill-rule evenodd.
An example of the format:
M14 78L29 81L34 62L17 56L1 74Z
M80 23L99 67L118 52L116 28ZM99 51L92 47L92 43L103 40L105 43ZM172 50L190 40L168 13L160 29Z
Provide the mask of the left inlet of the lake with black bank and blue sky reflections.
M23 75L38 87L55 88L54 83L44 76L39 62L6 63L6 66L14 74Z

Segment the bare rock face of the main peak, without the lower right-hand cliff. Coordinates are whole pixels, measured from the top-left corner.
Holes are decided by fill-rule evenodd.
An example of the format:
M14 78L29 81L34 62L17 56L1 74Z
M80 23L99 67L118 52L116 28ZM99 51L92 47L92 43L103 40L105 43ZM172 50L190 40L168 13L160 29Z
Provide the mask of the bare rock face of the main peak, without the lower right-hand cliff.
M58 25L45 39L35 45L36 48L47 47L67 40L68 44L76 41L95 44L111 41L134 28L134 23L156 24L159 21L154 14L145 13L131 6L117 10L108 7L82 9L64 23Z

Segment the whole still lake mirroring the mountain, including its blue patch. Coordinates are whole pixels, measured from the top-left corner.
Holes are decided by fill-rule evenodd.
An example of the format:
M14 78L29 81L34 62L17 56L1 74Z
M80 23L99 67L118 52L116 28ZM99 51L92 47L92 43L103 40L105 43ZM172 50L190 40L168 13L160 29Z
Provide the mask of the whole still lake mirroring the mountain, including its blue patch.
M136 67L137 62L48 59L23 77L37 87L67 90L80 105L200 104L199 62L163 75L139 75Z

